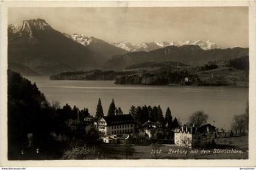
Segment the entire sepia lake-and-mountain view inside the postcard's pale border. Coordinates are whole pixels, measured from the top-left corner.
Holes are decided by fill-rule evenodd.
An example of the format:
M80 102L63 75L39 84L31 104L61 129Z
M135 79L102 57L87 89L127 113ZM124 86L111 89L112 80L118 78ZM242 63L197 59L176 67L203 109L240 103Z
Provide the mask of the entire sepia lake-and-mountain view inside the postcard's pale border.
M249 7L9 7L6 17L7 160L254 152Z

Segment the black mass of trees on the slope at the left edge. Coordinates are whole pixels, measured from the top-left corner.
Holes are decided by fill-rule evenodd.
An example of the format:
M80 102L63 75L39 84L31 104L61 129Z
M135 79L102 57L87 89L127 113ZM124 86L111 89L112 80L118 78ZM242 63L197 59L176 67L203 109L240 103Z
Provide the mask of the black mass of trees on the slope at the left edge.
M54 128L52 109L37 85L8 69L8 159L18 160L33 133L35 147L44 147ZM46 126L47 125L47 126Z

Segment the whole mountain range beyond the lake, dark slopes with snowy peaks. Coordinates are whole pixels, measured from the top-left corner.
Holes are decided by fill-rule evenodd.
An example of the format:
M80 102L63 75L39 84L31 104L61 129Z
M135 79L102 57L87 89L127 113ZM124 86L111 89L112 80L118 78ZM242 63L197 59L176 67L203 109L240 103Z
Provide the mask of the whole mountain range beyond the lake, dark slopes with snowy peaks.
M44 19L24 20L8 27L9 68L21 74L57 74L88 69L124 69L144 62L204 65L238 58L247 48L221 49L211 41L108 43L81 34L65 34ZM15 71L16 71L15 70Z

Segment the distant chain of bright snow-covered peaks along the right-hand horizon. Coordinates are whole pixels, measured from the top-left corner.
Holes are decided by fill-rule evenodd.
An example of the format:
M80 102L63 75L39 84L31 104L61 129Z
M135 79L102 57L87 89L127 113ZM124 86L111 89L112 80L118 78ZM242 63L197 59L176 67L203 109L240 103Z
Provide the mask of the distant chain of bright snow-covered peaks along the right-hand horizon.
M132 44L132 43L125 43L125 42L120 42L120 43L113 43L114 46L118 48L123 48L126 51L151 51L154 49L158 48L165 48L166 46L185 46L185 45L195 45L199 46L201 49L208 50L208 49L218 49L220 48L217 44L212 43L210 40L207 41L202 41L202 40L197 40L197 41L179 41L179 42L174 42L174 41L153 41L150 43L141 43L141 44Z

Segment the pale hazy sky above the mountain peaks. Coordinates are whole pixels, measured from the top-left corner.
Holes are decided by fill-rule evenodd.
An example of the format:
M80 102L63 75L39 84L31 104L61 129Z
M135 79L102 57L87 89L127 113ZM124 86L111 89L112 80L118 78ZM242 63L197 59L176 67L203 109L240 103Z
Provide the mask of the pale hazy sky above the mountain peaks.
M10 8L8 23L45 19L66 34L108 43L210 40L223 48L249 46L247 7Z

